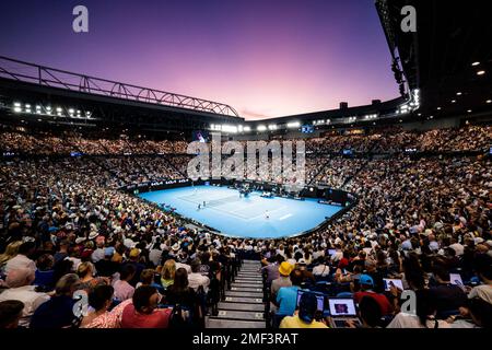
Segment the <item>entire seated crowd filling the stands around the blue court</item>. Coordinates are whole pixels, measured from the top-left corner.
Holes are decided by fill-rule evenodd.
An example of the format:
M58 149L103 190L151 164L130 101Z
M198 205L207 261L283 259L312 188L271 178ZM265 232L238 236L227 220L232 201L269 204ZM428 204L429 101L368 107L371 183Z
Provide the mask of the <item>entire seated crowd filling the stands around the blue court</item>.
M470 150L490 142L490 133L484 136L490 128L470 127L458 135L430 132L420 139L425 140L425 150ZM67 144L52 137L16 135L0 133L5 140L2 147L24 151L46 147L59 153ZM401 140L410 144L411 138L403 133ZM364 144L377 139L358 141L359 149L373 149ZM106 141L97 143L109 153L131 144ZM345 147L339 143L345 141L333 144ZM142 144L140 150L147 148ZM323 144L316 150L323 152ZM173 143L162 150L179 153ZM348 293L358 302L364 327L491 326L490 159L445 153L361 160L309 154L311 178L344 186L358 202L327 228L276 241L198 231L185 219L117 189L181 177L188 160L179 155L3 159L0 326L202 327L221 265L239 254L262 258L266 285L272 293L268 303L290 317L280 327L309 319L312 301L306 299L302 310L293 310L293 290L309 289L319 279L329 281L327 293ZM464 284L453 283L450 272L459 273ZM400 279L405 289L415 292L417 314L401 311L402 291L394 285L387 290L384 278ZM87 293L91 307L78 315L72 312L73 295L80 291ZM371 316L374 301L380 317ZM311 322L313 327L324 325Z

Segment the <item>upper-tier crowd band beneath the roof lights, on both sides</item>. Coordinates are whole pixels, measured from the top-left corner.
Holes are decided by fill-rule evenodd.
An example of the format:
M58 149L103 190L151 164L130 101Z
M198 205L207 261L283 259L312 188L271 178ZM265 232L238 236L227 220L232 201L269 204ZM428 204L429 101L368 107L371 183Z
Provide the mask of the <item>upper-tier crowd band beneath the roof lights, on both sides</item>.
M371 130L367 135L329 135L306 139L308 153L353 152L395 153L414 149L421 152L484 151L491 144L490 126L466 126L462 128L410 131L401 128ZM246 142L241 141L246 149ZM30 133L24 128L12 129L5 126L0 131L0 151L27 154L186 154L185 140L149 140L141 135L129 137L106 135L91 138L77 132L57 136L47 132Z

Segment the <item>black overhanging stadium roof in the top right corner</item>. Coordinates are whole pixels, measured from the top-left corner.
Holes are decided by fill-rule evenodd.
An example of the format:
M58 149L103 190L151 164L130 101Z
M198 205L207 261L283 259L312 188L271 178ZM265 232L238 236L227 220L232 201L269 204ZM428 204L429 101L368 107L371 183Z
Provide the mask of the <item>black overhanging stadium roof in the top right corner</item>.
M483 4L475 0L376 0L407 89L420 90L423 118L492 110L492 21ZM415 9L414 33L401 28L406 5Z

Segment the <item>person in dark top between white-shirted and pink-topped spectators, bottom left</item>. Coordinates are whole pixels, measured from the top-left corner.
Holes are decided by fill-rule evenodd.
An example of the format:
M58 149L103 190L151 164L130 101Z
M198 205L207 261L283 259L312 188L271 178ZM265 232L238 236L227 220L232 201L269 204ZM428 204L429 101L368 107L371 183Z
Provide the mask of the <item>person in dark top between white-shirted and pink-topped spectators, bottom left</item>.
M31 328L67 328L73 326L77 316L73 314L73 292L78 289L79 277L75 273L65 275L56 285L56 293L34 312Z

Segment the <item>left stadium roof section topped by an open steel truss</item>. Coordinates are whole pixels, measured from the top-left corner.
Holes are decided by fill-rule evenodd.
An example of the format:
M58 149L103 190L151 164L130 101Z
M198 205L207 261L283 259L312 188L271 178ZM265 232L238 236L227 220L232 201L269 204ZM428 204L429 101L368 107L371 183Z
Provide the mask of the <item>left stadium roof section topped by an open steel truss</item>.
M210 122L244 120L226 104L73 73L3 56L0 56L0 100L3 116L15 114L14 104L20 101L23 104L20 113L24 113L24 105L27 105L32 108L33 117L57 125L130 122L141 129L186 130L202 129ZM35 109L37 107L38 110ZM52 113L48 114L46 108L54 108ZM56 108L61 112L57 113ZM75 110L81 109L82 113L78 115ZM86 115L92 118L85 118Z

